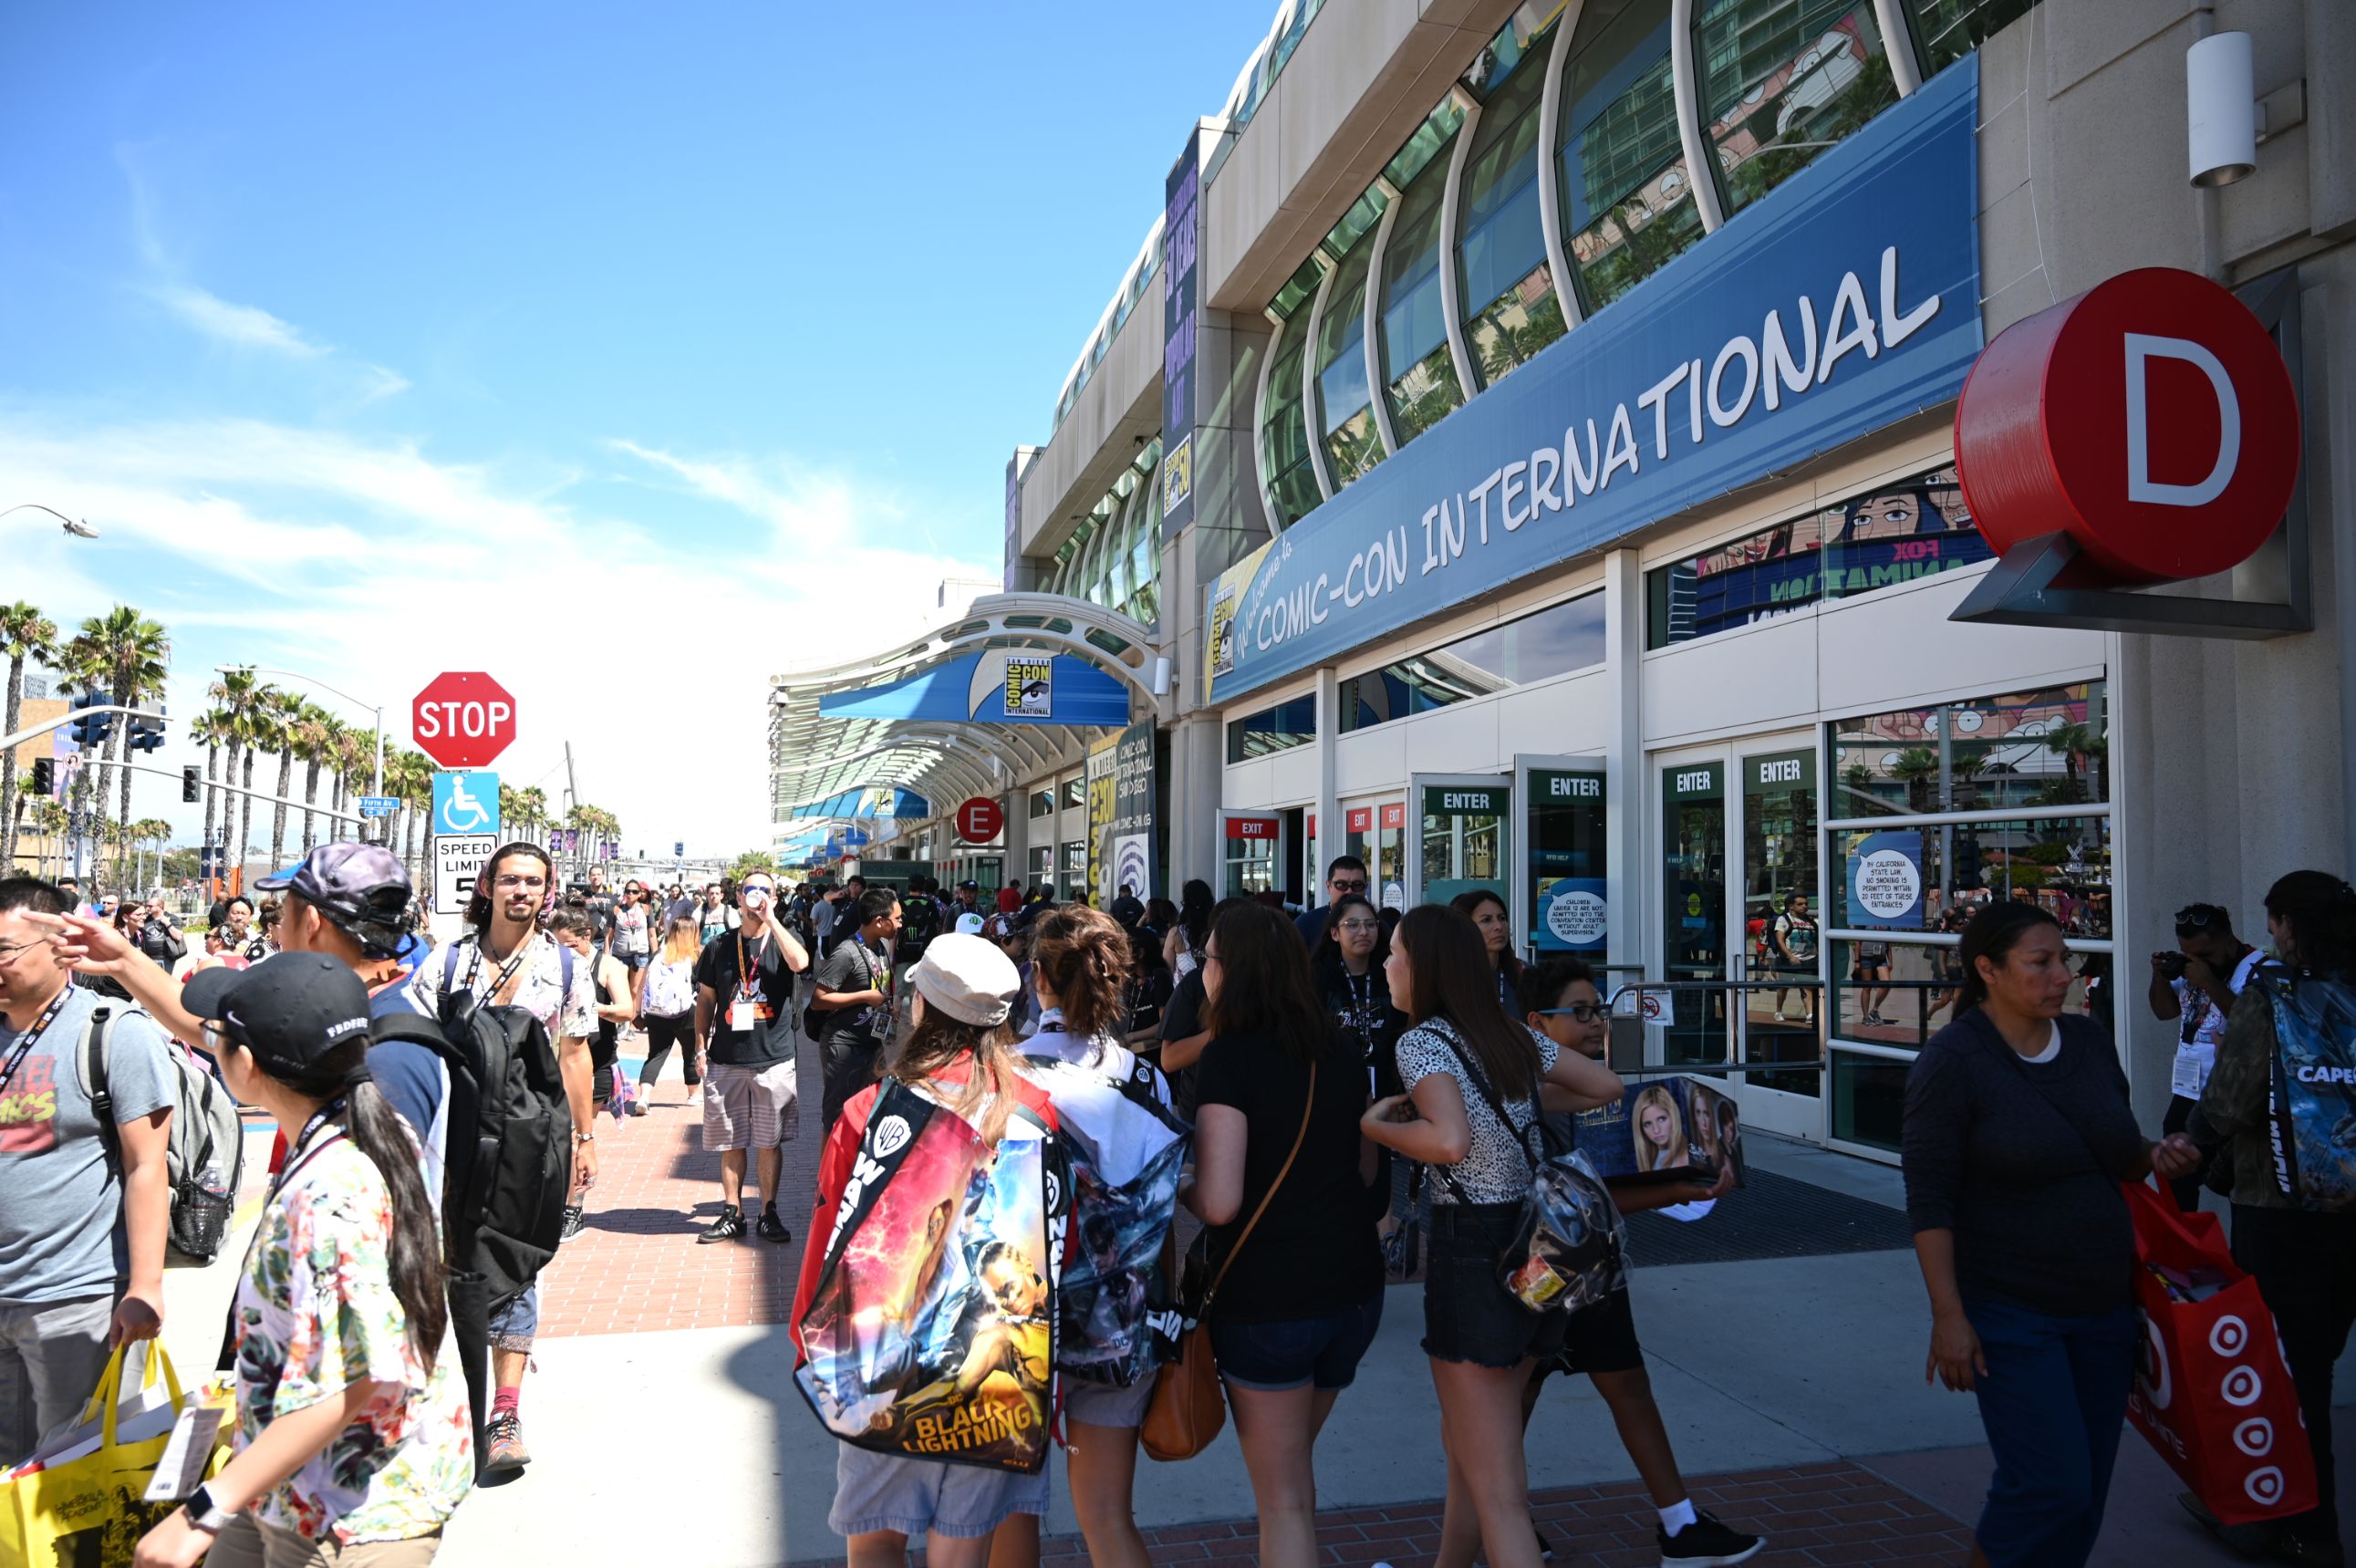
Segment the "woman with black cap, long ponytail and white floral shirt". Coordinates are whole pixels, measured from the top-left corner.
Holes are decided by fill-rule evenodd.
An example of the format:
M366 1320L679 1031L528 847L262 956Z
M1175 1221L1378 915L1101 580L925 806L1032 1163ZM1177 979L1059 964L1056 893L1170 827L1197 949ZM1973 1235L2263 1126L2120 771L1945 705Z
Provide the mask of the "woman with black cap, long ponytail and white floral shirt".
M184 1005L229 1092L297 1128L229 1314L236 1457L137 1568L422 1568L474 1483L417 1140L368 1071L368 986L325 954L205 970Z

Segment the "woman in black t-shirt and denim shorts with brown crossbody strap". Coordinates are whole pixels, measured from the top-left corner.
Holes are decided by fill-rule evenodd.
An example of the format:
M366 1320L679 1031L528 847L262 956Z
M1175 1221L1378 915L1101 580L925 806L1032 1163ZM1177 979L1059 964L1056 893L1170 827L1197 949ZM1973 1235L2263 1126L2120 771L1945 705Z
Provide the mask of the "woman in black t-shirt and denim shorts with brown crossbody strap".
M1310 1446L1383 1321L1374 1227L1333 1222L1366 1212L1376 1175L1357 1130L1366 1074L1317 1005L1301 935L1275 909L1220 913L1204 996L1194 1175L1178 1196L1211 1227L1213 1276L1227 1264L1209 1304L1211 1347L1251 1469L1260 1561L1310 1568Z

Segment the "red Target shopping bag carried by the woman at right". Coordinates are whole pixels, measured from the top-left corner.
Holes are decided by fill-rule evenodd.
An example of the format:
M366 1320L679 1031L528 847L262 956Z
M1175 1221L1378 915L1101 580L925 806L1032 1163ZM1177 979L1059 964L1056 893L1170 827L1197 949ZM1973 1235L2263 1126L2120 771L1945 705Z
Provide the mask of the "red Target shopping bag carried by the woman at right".
M2217 1215L2127 1187L2144 1351L2127 1420L2224 1523L2316 1507L2316 1462L2274 1314L2233 1264Z

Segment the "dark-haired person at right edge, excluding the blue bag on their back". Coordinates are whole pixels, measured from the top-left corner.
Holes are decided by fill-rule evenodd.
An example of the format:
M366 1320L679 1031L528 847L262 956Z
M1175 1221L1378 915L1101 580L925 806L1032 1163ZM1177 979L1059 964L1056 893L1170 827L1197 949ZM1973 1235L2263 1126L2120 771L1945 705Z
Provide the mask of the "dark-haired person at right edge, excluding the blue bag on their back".
M2299 1008L2302 994L2323 1017L2347 1005L2356 984L2356 890L2330 871L2292 871L2266 890L2274 963L2262 963L2233 1001L2217 1064L2186 1130L2203 1149L2231 1144L2233 1262L2257 1278L2274 1311L2290 1382L2299 1391L2307 1441L2316 1455L2318 1507L2274 1526L2226 1530L2229 1544L2292 1563L2340 1561L2340 1509L2332 1495L2332 1363L2356 1323L2356 1208L2309 1210L2278 1180L2271 1111L2281 1050L2276 998ZM2332 998L2332 989L2342 989Z

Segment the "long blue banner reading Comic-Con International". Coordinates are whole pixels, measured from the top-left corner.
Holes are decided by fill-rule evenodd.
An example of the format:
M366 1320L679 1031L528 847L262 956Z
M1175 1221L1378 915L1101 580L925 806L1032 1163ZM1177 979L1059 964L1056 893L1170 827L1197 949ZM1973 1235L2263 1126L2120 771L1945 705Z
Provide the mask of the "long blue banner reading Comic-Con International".
M1268 544L1213 603L1211 702L1951 400L1977 113L1970 57Z

